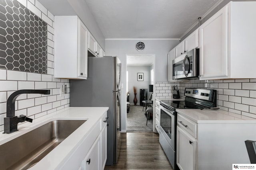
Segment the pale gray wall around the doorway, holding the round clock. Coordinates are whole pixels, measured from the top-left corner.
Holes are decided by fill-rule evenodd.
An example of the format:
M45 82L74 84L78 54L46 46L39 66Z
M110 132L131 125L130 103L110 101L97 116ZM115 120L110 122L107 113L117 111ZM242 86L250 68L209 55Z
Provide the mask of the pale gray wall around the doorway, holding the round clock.
M122 63L123 92L121 94L121 129L126 130L126 54L154 54L155 82L167 82L167 53L178 45L178 40L143 40L145 49L139 52L135 45L139 40L106 40L106 55L118 56Z

